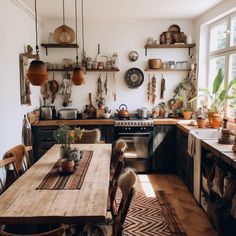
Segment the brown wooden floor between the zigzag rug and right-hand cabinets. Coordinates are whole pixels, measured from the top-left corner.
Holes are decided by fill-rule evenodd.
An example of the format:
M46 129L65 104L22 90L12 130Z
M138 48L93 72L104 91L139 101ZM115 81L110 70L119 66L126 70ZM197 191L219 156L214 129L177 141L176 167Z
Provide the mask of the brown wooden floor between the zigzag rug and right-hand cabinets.
M153 189L164 190L169 194L169 199L188 236L217 235L215 228L177 175L149 174L148 178Z

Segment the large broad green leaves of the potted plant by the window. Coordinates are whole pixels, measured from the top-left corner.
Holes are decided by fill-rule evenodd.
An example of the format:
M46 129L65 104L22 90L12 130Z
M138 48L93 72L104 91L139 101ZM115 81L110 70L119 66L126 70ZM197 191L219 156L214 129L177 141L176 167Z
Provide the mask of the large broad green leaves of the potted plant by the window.
M210 102L210 112L222 112L228 100L236 99L236 93L230 93L231 88L236 85L236 78L232 79L226 87L223 86L223 81L224 73L220 68L213 81L212 91L208 87L200 88L198 90L200 94L191 99L190 102L193 102L198 97L205 97Z

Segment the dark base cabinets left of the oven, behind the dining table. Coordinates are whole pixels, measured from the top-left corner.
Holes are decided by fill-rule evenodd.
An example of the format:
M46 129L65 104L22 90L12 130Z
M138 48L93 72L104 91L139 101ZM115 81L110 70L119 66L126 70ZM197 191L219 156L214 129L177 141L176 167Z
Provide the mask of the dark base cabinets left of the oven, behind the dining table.
M113 125L71 125L71 127L81 127L82 129L95 129L101 131L101 140L105 143L113 143ZM32 126L34 161L37 161L56 141L53 138L55 126Z

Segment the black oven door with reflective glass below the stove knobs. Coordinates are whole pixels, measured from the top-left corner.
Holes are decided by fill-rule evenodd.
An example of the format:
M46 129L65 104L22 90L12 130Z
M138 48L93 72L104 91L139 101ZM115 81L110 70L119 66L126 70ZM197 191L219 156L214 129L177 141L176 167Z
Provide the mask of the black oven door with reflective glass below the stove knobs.
M125 165L134 168L136 172L150 171L153 153L152 129L121 127L115 131L115 141L118 139L123 139L128 146L125 151Z

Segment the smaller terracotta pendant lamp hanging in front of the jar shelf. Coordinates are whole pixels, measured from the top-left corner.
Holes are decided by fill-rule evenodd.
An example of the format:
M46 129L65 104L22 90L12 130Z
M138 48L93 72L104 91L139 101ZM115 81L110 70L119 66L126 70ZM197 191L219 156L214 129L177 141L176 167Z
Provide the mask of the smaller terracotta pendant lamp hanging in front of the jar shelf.
M83 0L82 1L82 34L83 34ZM76 40L76 45L78 44L78 36L77 36L77 0L75 0L75 40ZM85 83L84 80L84 72L83 70L79 67L79 62L78 62L78 47L76 46L76 62L75 62L75 68L73 69L73 74L72 74L72 82L74 85L80 86Z

